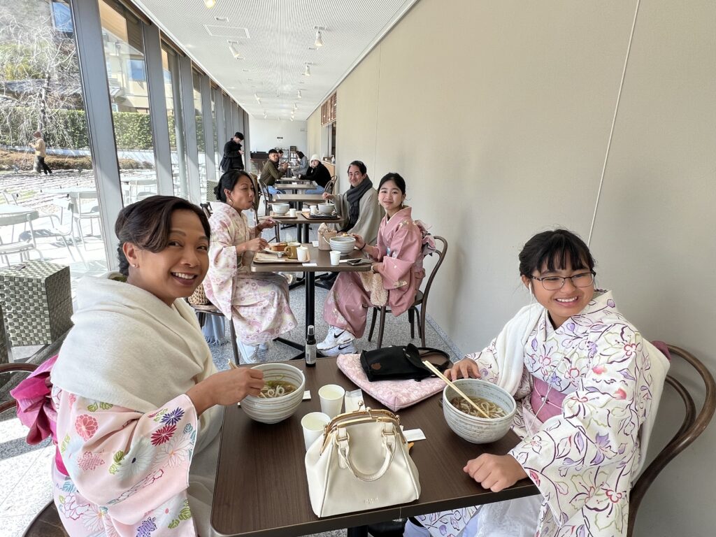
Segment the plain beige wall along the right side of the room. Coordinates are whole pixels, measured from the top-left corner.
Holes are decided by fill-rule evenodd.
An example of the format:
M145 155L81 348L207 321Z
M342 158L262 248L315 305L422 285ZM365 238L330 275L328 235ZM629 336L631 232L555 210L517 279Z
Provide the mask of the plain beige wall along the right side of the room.
M636 6L422 0L338 87L338 169L400 172L414 216L448 238L428 314L464 352L526 304L523 243L558 225L587 238L599 200L598 283L647 338L716 369L716 4L641 1L600 195ZM667 389L652 455L678 407ZM711 425L669 464L635 536L713 534L715 444Z

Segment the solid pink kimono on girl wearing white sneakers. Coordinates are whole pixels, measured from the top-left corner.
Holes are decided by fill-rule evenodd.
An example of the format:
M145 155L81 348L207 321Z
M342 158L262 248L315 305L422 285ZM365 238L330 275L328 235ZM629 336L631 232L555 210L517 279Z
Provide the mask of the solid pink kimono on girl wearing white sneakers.
M379 252L374 261L383 263L379 273L388 291L388 305L397 317L410 308L425 277L422 230L412 220L410 207L401 209L390 220L383 217L378 229L377 248ZM370 305L370 295L358 273L341 272L324 304L324 319L332 326L361 337Z

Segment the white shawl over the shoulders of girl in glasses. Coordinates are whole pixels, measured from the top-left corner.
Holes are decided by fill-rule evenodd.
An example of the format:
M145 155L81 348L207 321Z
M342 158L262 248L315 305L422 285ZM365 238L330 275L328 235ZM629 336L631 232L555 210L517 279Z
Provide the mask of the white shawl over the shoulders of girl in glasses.
M517 391L522 379L524 367L524 348L527 339L543 315L544 307L541 304L530 304L523 307L516 316L505 324L495 339L495 361L498 365L498 386L510 392L512 395ZM652 373L652 399L651 405L647 408L647 419L642 424L639 433L639 465L634 467L632 480L636 479L647 460L647 448L649 437L654 428L654 422L659 409L659 400L662 397L664 379L669 370L669 361L654 345L642 339L644 351L648 354L651 363Z

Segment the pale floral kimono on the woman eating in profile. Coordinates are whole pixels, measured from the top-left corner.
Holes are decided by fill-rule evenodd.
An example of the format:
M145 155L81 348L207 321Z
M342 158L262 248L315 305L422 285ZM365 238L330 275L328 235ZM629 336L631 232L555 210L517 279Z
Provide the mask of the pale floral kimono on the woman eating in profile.
M289 304L289 285L279 274L252 273L253 252L236 255L236 246L256 238L246 216L226 203L214 203L209 218L209 271L206 298L233 319L241 342L255 345L276 339L296 326Z

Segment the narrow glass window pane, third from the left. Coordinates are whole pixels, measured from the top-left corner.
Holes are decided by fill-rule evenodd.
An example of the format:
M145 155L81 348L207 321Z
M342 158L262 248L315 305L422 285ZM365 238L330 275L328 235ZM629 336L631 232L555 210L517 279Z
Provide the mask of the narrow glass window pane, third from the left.
M186 170L186 138L182 115L181 84L179 82L179 58L172 49L165 45L162 47L162 68L164 72L164 95L167 101L174 195L188 199L189 185Z

